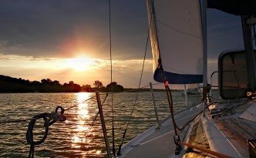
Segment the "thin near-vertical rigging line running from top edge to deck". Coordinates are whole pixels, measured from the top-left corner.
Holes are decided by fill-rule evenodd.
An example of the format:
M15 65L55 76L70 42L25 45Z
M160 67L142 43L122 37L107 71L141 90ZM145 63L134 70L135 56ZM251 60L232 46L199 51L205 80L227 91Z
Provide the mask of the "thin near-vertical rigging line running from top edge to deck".
M110 54L110 73L111 73L111 110L112 110L112 146L113 146L113 156L116 156L115 149L115 129L114 129L114 109L113 109L113 66L112 66L112 37L111 37L111 0L109 0L109 54Z

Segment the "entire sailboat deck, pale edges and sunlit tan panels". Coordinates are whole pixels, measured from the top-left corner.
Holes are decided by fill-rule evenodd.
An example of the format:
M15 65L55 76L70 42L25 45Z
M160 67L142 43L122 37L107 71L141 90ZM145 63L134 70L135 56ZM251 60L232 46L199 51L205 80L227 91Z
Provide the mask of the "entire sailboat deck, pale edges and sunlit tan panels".
M227 104L231 105L231 103L225 103L214 104L213 106L217 109L219 107L223 108ZM234 103L232 105L237 106L239 104ZM250 106L256 106L256 104L251 102L237 106L232 115L224 113L210 114L206 110L205 116L201 113L200 116L197 116L197 119L194 119L194 122L190 123L190 126L187 126L187 128L179 133L180 141L230 157L249 157L247 140L256 138L254 132L256 131L256 126L254 122L240 119L239 116ZM175 115L177 125L183 126L203 109L204 106L197 106L196 109L185 109L177 113ZM195 123L197 123L198 127L193 127ZM121 150L122 155L116 157L183 157L186 154L184 149L187 149L187 147L182 146L180 154L175 155L174 135L173 123L170 118L166 119L161 123L160 130L156 130L155 127L148 129L123 146ZM199 150L194 149L194 151L204 156L214 157Z

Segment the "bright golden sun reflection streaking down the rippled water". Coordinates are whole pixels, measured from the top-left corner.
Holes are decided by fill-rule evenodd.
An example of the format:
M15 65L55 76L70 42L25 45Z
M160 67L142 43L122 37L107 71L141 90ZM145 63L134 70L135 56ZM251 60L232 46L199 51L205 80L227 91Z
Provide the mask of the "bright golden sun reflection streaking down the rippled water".
M76 109L76 125L74 125L73 135L72 135L72 147L76 149L85 149L86 153L99 155L100 150L91 149L89 144L92 142L90 139L86 139L86 136L93 136L93 133L89 131L89 126L91 124L91 119L89 116L89 101L85 100L91 97L91 93L79 92L76 93L76 99L79 103Z

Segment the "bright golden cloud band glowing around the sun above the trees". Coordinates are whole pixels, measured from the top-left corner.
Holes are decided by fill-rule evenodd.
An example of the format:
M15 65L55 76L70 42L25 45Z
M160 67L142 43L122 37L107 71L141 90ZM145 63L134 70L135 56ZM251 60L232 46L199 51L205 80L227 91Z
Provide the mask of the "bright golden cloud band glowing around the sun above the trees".
M0 54L0 72L5 76L29 79L30 81L52 79L62 83L74 81L80 85L93 84L96 79L105 84L110 82L109 60L84 59L84 65L78 66L86 66L86 69L80 70L72 65L76 62L79 60ZM132 82L139 82L142 64L143 60L139 59L113 60L113 81L120 82L123 86L132 87ZM146 80L149 79L148 74L152 76L151 60L145 61L143 73Z

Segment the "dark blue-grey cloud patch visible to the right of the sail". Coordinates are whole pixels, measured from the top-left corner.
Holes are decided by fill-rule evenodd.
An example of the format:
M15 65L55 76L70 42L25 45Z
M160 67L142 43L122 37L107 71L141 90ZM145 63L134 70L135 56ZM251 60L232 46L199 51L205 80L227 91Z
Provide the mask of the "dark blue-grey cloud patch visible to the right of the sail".
M209 58L217 59L227 49L244 48L240 16L209 9L207 32Z

